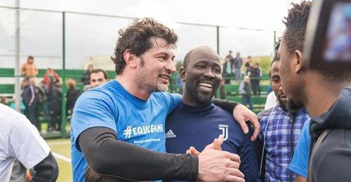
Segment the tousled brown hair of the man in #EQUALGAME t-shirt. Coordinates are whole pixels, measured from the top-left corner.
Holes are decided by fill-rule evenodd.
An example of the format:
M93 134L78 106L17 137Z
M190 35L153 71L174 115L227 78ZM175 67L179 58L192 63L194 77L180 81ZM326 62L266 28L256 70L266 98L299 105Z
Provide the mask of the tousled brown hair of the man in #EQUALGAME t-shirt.
M178 41L178 36L173 29L169 29L152 18L134 19L132 25L119 30L114 57L111 57L116 65L117 75L121 74L126 66L124 51L130 50L136 56L143 55L144 52L152 48L152 38L162 38L167 45L172 45L172 48L176 48Z

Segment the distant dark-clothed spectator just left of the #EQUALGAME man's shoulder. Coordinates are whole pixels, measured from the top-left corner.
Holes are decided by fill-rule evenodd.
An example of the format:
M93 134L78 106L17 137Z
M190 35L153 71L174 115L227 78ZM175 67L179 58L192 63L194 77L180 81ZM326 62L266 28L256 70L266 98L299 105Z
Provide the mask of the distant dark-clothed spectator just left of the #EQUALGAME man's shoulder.
M68 79L67 80L67 102L66 102L66 111L68 114L73 113L73 108L74 104L76 104L76 101L79 97L79 90L76 87L76 82L73 79Z

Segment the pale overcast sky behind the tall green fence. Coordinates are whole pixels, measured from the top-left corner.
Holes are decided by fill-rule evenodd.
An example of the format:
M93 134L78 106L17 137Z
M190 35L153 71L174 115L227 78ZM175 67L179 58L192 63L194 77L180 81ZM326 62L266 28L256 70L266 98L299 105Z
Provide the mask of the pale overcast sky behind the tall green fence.
M294 1L299 2L299 1ZM181 25L190 22L220 25L220 56L228 50L243 56L272 55L273 31L284 31L282 19L291 8L284 0L22 0L22 8L39 8L128 17L152 17L175 29L179 36L176 59L199 45L216 50L216 28ZM13 0L0 0L0 6L14 6ZM0 67L11 67L14 50L13 10L0 8ZM39 62L60 66L62 55L62 15L25 10L21 12L21 54L37 55ZM130 20L66 15L67 68L81 68L89 56L112 55L118 30ZM242 30L259 29L256 30ZM24 60L22 60L24 62ZM14 64L13 64L14 65ZM41 65L39 65L40 67ZM44 65L43 65L44 66ZM46 66L46 65L45 65Z

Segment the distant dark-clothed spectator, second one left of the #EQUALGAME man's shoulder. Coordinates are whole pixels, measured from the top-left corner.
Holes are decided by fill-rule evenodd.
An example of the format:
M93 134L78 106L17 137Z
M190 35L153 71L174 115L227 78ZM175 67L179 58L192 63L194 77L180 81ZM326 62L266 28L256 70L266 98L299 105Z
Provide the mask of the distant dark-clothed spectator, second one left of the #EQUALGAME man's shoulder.
M48 109L51 116L48 132L61 131L62 90L60 80L55 83L51 82L48 88Z

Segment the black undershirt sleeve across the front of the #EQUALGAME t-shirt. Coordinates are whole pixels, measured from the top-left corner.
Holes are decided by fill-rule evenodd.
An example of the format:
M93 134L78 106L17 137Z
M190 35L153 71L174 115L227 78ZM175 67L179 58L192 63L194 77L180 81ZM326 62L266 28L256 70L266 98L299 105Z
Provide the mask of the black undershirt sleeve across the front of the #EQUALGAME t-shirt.
M199 160L193 155L158 153L117 140L114 130L91 127L79 135L79 146L88 165L100 174L149 181L195 181Z

